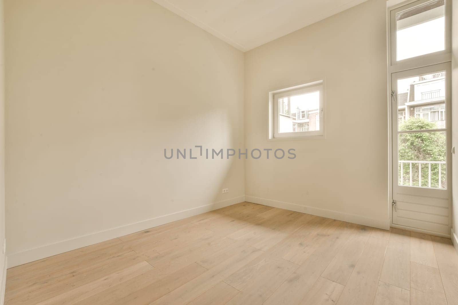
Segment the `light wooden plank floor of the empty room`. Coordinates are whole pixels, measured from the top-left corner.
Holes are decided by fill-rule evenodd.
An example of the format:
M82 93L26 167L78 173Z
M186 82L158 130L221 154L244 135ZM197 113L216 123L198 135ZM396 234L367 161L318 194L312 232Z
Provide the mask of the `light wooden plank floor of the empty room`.
M449 239L239 203L8 269L6 304L458 304Z

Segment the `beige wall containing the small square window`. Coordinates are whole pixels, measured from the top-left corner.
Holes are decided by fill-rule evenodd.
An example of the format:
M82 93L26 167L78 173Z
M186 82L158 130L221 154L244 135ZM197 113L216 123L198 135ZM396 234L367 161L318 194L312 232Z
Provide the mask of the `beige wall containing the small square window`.
M369 0L245 53L246 146L297 154L247 161L247 200L388 228L386 43ZM267 141L268 91L320 77L327 138Z

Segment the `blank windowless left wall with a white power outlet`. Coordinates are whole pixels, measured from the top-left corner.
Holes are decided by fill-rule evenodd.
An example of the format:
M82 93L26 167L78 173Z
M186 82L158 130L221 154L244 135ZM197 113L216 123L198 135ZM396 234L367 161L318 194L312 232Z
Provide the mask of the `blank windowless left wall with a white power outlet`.
M244 147L240 51L151 0L6 0L5 16L10 267L243 201L244 161L164 159Z

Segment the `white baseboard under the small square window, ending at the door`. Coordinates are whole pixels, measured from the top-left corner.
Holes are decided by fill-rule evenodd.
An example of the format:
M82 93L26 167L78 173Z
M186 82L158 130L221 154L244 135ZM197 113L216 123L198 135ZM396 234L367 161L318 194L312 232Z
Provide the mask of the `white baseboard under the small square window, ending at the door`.
M360 216L360 215L348 214L348 213L325 210L325 209L318 209L314 207L299 205L296 203L288 203L288 202L283 202L283 201L276 201L276 200L270 200L266 198L259 198L259 197L246 196L246 195L245 195L245 201L267 205L269 207L274 207L274 208L279 208L279 209L287 209L290 211L342 220L342 221L351 222L351 223L358 224L358 225L366 225L369 227L379 228L383 230L390 229L390 222L388 219L387 220L372 219L372 218L367 218L367 217Z

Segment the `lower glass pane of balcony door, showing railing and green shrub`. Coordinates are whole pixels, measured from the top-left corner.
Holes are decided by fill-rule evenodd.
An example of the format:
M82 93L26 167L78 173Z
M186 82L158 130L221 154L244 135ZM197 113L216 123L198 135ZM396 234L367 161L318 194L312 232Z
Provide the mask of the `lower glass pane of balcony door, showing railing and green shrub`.
M446 133L398 135L398 185L447 188Z

